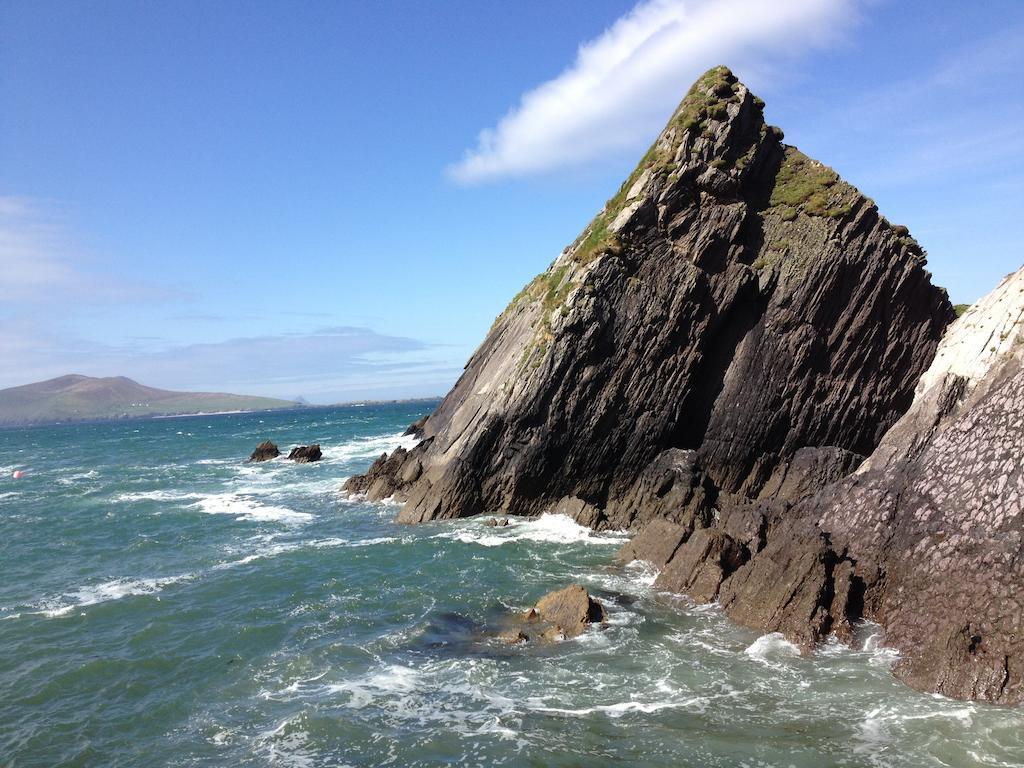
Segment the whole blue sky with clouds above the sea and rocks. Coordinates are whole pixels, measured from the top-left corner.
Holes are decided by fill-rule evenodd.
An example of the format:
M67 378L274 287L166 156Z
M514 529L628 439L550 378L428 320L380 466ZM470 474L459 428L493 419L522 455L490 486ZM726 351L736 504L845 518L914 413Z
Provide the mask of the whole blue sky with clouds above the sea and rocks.
M718 63L973 301L1024 260L1022 39L1017 0L4 0L0 387L443 393Z

